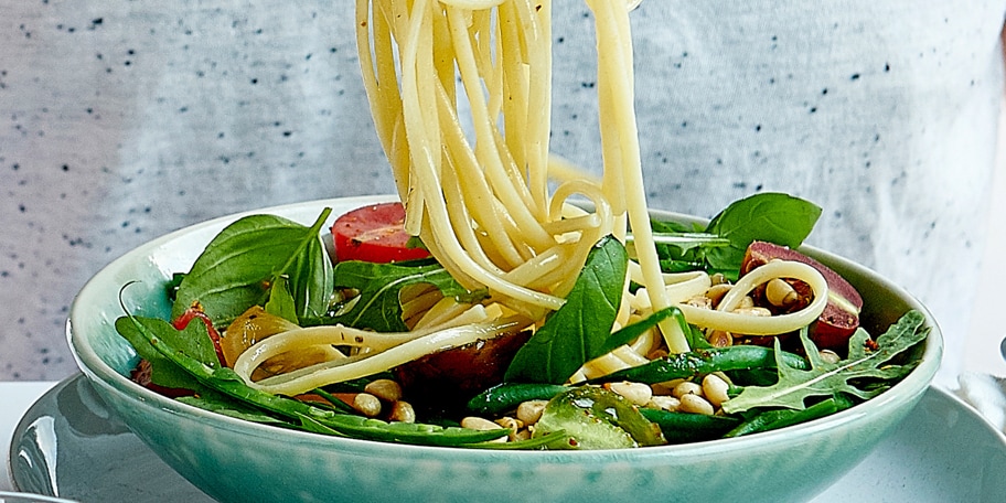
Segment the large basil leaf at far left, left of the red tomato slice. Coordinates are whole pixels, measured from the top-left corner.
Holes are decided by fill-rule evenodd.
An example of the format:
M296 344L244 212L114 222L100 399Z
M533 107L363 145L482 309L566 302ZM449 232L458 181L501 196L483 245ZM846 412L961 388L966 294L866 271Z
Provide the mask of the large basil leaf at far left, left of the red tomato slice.
M199 303L214 324L226 324L266 302L269 287L287 278L298 317L321 315L332 292L332 267L320 231L275 215L252 215L224 228L179 285L172 318Z

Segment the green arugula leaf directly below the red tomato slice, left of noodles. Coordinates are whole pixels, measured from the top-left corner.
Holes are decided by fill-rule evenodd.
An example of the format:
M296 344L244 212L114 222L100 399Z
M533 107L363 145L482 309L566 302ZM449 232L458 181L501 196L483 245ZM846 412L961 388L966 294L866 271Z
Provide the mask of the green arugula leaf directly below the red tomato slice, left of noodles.
M355 288L360 295L343 313L327 320L347 327L365 328L377 332L405 332L402 302L398 293L416 283L430 283L446 297L469 295L469 291L439 264L373 264L343 261L335 265L334 283L341 288Z

